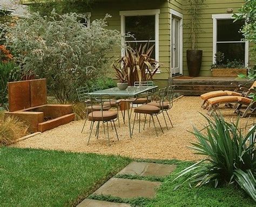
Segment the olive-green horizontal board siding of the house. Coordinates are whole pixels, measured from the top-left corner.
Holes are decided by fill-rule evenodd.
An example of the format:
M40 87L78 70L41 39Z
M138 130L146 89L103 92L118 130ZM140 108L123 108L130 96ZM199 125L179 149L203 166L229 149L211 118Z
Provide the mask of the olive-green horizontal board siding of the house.
M212 15L225 14L228 8L232 8L233 13L236 13L244 3L245 0L205 0L206 6L203 9L200 23L201 31L198 33L198 49L203 50L200 76L212 76L210 70L214 55ZM91 4L89 8L85 7L84 12L91 12L91 20L104 18L106 13L109 13L112 18L108 19L109 25L107 28L120 31L120 11L159 9L159 62L163 63L163 66L161 67L161 73L156 74L154 79L160 81L167 80L171 70L171 9L183 14L183 25L189 24L190 19L186 5L186 0L98 0ZM185 76L188 75L186 50L190 48L186 42L189 40L189 33L190 31L183 26L183 75ZM111 55L120 56L120 49L116 49ZM251 65L253 63L251 62Z

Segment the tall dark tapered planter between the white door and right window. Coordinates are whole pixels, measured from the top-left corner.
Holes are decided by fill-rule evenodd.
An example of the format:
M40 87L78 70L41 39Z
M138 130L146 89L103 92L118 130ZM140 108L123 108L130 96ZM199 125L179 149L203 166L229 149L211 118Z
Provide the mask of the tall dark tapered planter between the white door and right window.
M203 51L187 50L187 68L190 76L199 76Z

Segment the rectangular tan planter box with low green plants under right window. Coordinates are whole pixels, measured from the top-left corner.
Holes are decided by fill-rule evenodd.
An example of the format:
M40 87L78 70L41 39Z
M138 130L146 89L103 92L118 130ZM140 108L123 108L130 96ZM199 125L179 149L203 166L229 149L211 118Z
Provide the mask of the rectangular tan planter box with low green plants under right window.
M247 75L247 68L240 60L227 60L224 63L225 55L222 52L215 54L215 63L211 66L213 77L237 77L239 74Z

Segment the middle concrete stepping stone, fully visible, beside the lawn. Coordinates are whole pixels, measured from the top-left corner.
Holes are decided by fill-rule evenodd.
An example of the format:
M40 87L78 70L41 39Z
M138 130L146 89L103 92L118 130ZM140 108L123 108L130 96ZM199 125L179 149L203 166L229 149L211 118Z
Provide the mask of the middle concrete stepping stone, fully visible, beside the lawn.
M93 194L111 195L119 198L153 198L156 195L156 188L158 188L160 184L160 182L112 177L112 179L103 184L102 187L93 192Z

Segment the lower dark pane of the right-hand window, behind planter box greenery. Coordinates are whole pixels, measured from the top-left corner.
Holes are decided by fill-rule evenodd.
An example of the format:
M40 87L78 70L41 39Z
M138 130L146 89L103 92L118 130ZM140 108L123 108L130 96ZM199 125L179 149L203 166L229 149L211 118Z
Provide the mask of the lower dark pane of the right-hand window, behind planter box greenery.
M217 43L217 51L223 52L225 61L234 59L245 61L245 42L241 43Z

